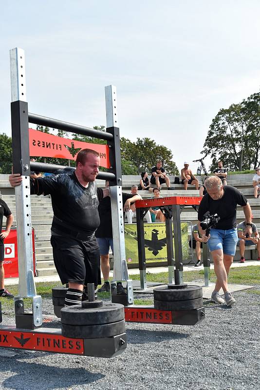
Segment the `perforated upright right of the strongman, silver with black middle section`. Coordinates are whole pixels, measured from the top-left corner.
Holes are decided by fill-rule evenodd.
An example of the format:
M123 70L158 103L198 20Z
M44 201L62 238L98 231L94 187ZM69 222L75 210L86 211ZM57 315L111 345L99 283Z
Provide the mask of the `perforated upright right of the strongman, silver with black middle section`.
M107 132L113 135L113 141L108 141L110 151L110 172L115 175L115 180L110 182L112 232L114 249L113 282L127 281L128 304L133 303L133 289L129 280L124 232L124 213L122 200L122 169L120 153L120 137L117 116L116 87L105 87Z

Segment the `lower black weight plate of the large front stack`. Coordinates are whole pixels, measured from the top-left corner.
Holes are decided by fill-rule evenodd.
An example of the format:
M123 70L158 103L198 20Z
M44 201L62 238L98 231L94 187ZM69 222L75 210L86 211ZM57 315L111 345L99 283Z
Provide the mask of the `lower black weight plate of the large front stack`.
M125 320L103 325L61 324L61 334L71 338L100 338L116 336L125 332Z

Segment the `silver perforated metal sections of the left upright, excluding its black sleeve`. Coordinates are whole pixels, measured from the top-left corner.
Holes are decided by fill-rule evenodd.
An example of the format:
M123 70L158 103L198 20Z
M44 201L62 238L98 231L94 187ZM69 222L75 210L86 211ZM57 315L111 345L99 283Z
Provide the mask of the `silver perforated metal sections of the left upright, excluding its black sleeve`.
M11 99L12 102L26 101L24 50L10 50ZM28 145L29 148L29 145ZM24 171L28 167L24 166ZM42 324L41 296L36 295L33 273L33 243L31 222L30 177L22 173L22 183L15 187L18 265L19 265L19 297L33 297L33 316L35 326Z

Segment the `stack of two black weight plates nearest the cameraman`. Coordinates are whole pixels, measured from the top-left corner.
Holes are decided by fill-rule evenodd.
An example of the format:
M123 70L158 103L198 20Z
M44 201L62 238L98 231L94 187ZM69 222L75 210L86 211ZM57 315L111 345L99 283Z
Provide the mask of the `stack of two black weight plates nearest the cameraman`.
M157 310L183 311L203 307L202 287L187 284L168 284L153 290L154 308Z

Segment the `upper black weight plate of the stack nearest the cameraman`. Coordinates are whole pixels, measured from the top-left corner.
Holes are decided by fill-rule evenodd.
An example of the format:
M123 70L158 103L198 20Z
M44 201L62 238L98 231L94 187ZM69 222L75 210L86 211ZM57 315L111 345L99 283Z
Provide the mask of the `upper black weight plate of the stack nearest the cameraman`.
M154 299L157 301L188 301L202 297L202 287L187 286L186 289L171 290L161 287L153 290Z

